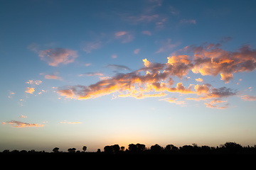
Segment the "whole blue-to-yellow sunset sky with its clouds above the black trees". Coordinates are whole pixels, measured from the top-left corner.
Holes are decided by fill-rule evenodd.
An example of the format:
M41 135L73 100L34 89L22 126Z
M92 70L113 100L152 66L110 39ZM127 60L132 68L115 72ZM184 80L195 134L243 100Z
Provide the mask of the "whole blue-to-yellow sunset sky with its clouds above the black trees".
M256 145L255 1L0 2L0 151Z

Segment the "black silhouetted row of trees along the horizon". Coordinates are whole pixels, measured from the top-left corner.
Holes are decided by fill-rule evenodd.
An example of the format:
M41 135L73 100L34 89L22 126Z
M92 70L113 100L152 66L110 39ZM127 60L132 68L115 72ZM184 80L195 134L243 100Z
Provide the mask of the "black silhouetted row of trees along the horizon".
M166 145L161 147L160 145L152 145L146 147L144 144L129 144L129 147L119 147L119 145L107 145L104 147L104 151L97 149L97 152L86 152L87 147L82 147L82 152L75 148L69 148L68 152L60 152L58 147L53 148L53 152L35 151L35 150L13 150L8 149L0 152L0 154L256 154L256 145L254 147L242 147L242 145L235 142L226 142L220 147L209 147L206 145L198 146L183 145L182 147L176 147L174 145Z

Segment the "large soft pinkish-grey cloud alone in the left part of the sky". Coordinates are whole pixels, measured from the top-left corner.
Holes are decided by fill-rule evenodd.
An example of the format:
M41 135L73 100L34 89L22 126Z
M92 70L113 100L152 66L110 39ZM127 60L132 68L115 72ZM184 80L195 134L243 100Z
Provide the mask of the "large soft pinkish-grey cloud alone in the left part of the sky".
M58 47L55 49L41 50L39 57L41 60L48 62L50 66L57 67L58 64L74 62L78 55L76 51Z

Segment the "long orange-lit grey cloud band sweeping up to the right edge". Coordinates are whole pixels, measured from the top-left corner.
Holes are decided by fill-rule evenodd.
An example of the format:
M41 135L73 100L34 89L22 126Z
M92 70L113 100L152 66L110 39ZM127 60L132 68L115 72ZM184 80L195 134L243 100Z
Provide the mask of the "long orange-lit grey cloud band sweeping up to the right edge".
M178 52L193 52L193 55L180 55L176 52L167 57L167 62L164 64L144 59L142 69L127 74L117 74L90 86L68 86L59 89L58 94L79 100L97 98L107 94L138 99L161 97L169 93L191 94L196 97L188 97L186 100L205 101L208 108L228 108L228 103L222 98L236 96L238 91L225 86L215 88L199 78L196 81L203 84L184 86L182 82L174 83L175 77L181 80L191 72L214 77L220 74L221 80L227 84L233 79L233 74L252 72L256 68L256 50L250 49L248 45L235 52L228 52L220 47L220 44L188 46ZM115 65L109 66L114 67ZM243 99L249 100L249 97L245 96ZM176 104L184 103L184 101L174 98L161 100Z

